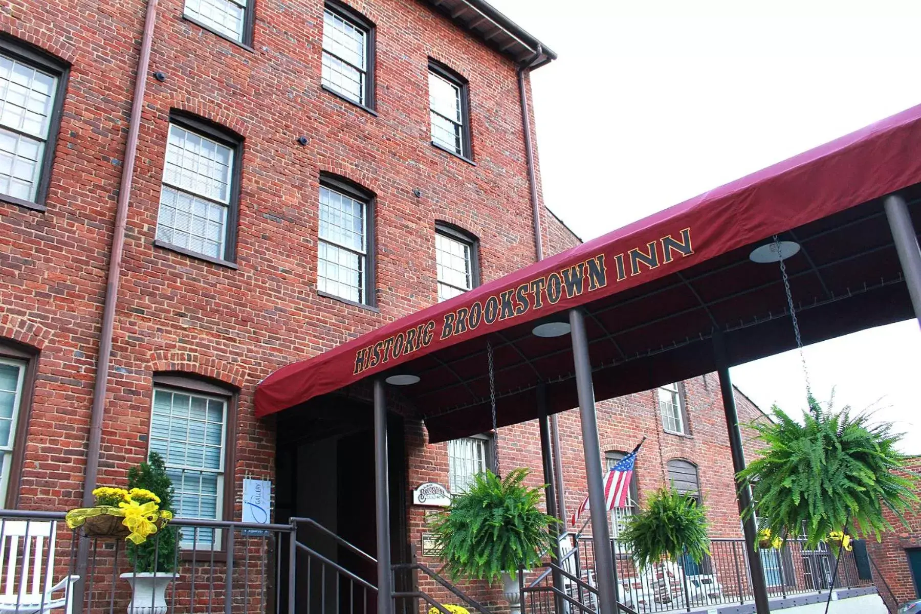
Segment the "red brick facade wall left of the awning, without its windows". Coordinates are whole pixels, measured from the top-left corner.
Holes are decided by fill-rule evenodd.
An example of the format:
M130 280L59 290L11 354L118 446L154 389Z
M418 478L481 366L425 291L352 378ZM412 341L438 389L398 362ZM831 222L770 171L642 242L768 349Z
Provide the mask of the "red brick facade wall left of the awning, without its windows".
M274 421L256 383L436 300L437 220L480 241L484 281L533 261L515 65L416 0L351 3L377 25L373 116L321 89L321 0L256 6L252 49L159 2L131 193L100 481L146 456L153 375L239 389L236 467L271 478ZM71 64L47 211L0 203L0 335L40 350L19 489L23 507L81 496L108 249L146 2L0 8L0 29ZM476 166L429 144L427 62L470 82ZM530 90L530 88L529 88ZM237 268L153 246L170 110L243 137ZM52 130L55 129L52 127ZM307 145L298 145L304 135ZM316 292L320 173L376 201L376 308ZM422 196L417 198L413 190Z

